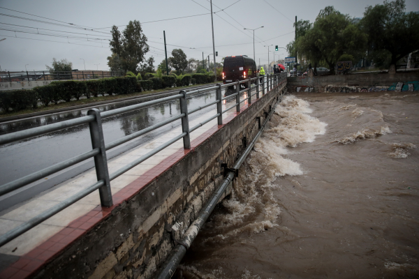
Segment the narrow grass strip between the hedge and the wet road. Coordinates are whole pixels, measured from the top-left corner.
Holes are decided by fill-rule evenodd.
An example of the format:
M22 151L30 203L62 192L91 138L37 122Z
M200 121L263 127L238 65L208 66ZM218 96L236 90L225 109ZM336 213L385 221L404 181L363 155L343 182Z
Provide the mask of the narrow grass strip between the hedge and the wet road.
M216 83L217 82L206 83L206 84L216 84ZM206 84L196 84L196 86L206 85ZM174 89L179 89L180 90L180 89L190 88L190 87L191 86L180 86L180 87L176 87ZM104 100L118 100L118 99L122 99L122 98L142 96L142 95L147 95L149 93L159 93L159 92L170 91L170 90L172 90L172 89L166 88L166 89L158 89L158 90L153 90L153 91L135 92L135 93L126 94L126 95L98 96L98 97L91 97L89 99L72 100L71 102L58 103L57 105L50 104L47 107L41 106L41 107L38 107L36 109L20 110L18 112L9 112L7 114L5 112L3 112L3 113L0 114L0 119L2 119L4 117L9 117L9 116L18 116L18 115L30 114L30 113L34 113L34 112L48 112L50 110L63 109L63 108L66 108L66 107L74 107L76 105L94 104L94 103L102 102Z

